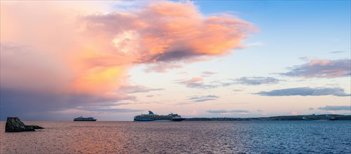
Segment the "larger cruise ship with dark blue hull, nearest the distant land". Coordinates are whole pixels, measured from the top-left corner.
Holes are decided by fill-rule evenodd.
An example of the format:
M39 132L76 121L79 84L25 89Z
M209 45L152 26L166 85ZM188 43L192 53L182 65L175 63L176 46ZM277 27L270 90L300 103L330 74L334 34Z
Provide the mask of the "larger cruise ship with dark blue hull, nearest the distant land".
M135 121L182 121L186 118L181 118L178 114L170 113L168 115L157 115L152 111L149 114L141 114L134 117Z

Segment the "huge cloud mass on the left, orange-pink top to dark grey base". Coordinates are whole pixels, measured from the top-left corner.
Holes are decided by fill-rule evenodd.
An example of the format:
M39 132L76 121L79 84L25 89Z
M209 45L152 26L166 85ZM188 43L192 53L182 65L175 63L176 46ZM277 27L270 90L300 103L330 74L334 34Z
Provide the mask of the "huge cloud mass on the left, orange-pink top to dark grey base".
M154 89L123 92L130 66L165 72L229 55L256 31L231 15L202 15L188 1L133 5L1 1L1 118L135 99L128 94Z

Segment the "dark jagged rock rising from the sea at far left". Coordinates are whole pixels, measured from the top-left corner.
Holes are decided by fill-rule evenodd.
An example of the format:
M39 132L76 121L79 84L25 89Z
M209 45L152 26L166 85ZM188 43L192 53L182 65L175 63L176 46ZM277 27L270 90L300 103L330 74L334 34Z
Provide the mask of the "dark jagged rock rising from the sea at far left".
M26 132L35 131L35 129L44 129L37 125L25 125L18 117L8 117L6 120L6 132Z

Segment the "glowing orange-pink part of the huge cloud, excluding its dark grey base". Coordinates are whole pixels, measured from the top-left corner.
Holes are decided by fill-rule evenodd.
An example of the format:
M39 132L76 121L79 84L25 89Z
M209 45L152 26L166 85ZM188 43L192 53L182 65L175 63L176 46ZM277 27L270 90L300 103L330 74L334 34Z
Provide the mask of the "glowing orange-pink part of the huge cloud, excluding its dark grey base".
M50 85L47 89L104 94L125 83L131 65L173 62L172 66L154 68L165 72L180 67L181 62L230 54L242 48L241 41L255 31L251 23L228 15L202 15L191 2L153 2L123 13L89 10L95 7L86 3L83 6L67 1L1 1L1 52L11 43L28 46L29 54L39 55L23 59L20 63L28 65L15 71L5 67L23 55L12 49L4 51L1 80L31 80ZM45 68L37 71L40 66ZM58 84L51 85L53 80L45 78ZM32 86L23 82L26 84Z

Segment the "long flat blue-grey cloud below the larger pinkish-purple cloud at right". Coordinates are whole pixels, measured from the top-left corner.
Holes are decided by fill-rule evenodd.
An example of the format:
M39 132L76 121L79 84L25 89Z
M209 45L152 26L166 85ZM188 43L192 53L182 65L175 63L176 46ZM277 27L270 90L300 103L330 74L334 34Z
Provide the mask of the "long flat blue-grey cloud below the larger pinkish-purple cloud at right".
M351 94L346 94L341 88L312 88L312 87L294 87L281 90L262 91L254 94L262 96L322 96L333 95L337 97L347 97Z

